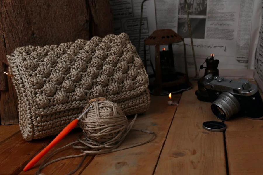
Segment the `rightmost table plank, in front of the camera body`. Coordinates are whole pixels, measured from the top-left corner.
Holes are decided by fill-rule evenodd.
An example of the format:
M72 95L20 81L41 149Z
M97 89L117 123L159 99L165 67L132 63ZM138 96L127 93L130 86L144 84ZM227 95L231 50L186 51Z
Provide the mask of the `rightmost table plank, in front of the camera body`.
M225 124L229 174L263 174L263 120L238 117Z

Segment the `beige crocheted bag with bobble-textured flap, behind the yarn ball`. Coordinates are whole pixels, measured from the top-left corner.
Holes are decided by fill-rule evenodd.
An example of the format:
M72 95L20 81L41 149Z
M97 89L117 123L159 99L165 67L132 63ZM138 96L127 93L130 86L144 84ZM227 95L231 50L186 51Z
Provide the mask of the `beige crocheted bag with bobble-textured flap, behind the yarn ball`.
M117 103L125 115L149 107L148 75L126 33L19 47L7 58L27 141L58 134L92 98Z

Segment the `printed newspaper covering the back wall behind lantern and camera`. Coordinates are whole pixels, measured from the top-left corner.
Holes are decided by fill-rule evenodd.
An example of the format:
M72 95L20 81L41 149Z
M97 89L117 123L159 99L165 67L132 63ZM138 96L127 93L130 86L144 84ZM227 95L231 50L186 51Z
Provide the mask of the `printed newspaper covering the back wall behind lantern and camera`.
M132 43L137 46L142 0L111 0L110 2L115 17L116 34L127 32ZM212 53L215 59L219 60L219 70L254 69L261 1L187 0L187 2L198 67ZM190 77L194 76L185 0L149 0L144 3L143 8L139 54L142 60L144 38L156 29L172 29L185 40L188 74ZM160 46L160 48L168 49L168 46ZM177 71L184 72L183 43L173 44L173 51ZM147 60L151 59L155 67L155 48L146 47L146 52Z

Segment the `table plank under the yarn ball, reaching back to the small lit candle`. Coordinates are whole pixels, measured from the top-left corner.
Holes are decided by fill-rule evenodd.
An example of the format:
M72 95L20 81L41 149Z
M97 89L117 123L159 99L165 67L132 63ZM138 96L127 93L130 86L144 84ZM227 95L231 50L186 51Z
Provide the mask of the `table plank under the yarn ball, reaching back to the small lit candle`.
M180 96L180 94L173 95L173 99L179 101ZM167 101L166 96L151 96L149 110L138 116L133 127L155 132L157 134L155 140L138 147L96 155L83 174L153 174L177 108L177 106L168 106ZM149 137L150 134L130 132L121 147L139 143Z

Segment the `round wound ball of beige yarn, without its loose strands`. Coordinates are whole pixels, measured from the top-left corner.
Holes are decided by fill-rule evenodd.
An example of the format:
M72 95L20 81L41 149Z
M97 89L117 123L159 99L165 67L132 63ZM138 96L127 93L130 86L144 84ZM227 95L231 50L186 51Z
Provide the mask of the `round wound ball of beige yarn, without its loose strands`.
M92 107L79 120L79 126L83 129L84 136L92 142L94 148L104 144L107 148L116 146L122 142L129 129L127 117L122 110L108 100L96 100L89 103Z

